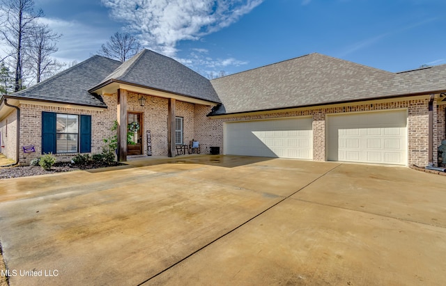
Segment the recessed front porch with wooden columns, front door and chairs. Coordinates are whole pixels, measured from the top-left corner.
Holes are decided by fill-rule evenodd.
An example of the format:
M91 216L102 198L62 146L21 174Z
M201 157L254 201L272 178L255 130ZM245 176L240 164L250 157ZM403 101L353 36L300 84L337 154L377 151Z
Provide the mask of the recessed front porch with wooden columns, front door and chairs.
M192 152L193 139L199 141L201 153L222 145L222 136L215 134L218 129L206 128L220 123L206 117L215 104L178 95L167 97L167 93L155 96L153 90L141 93L140 89L136 92L118 88L116 93L102 93L111 114L116 112L118 161L188 154ZM136 128L130 130L132 127ZM215 138L219 141L215 142ZM197 153L196 148L193 151Z

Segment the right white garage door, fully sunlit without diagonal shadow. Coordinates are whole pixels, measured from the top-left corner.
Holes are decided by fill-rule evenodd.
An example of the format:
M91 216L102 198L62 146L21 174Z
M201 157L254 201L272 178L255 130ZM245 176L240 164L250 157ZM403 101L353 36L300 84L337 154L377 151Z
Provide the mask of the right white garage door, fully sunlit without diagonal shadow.
M406 165L406 111L328 116L326 128L330 161Z

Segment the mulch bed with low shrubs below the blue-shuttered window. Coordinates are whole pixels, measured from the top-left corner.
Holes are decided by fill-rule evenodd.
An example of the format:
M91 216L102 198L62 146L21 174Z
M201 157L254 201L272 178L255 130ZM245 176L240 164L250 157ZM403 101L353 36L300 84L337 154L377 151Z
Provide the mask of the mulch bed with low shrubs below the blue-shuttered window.
M89 170L96 168L105 168L112 166L121 166L123 164L114 162L112 165L102 164L102 163L92 163L84 166L77 166L70 163L56 163L52 166L51 170L44 170L40 166L15 166L15 167L6 167L0 168L0 180L1 179L10 179L13 177L29 177L36 175L46 175L53 173L62 173L69 172L72 170Z

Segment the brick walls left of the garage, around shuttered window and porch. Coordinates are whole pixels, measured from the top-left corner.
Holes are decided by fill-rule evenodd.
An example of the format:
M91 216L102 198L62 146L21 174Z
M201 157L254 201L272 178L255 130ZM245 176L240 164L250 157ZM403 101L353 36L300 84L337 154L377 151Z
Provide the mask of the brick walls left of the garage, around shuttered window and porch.
M145 106L140 106L138 99L138 93L128 93L128 111L140 112L143 116L143 126L142 128L142 142L143 142L143 153L147 155L147 141L146 141L146 131L151 130L151 140L152 140L152 154L153 156L167 156L167 116L168 116L168 102L169 100L162 97L153 97L151 95L146 96ZM29 162L40 157L42 154L42 111L49 111L55 113L68 113L75 115L91 115L91 125L92 125L92 138L91 138L91 154L99 153L102 151L102 146L105 144L103 142L104 138L108 138L114 135L111 131L116 120L117 114L117 94L114 95L104 95L102 96L105 104L107 104L107 109L83 109L82 106L74 108L65 108L59 106L40 106L34 104L22 104L20 106L21 111L21 143L20 145L34 145L36 152L33 153L23 153L20 152L20 161L22 164L29 164ZM196 114L196 110L200 111L199 116L203 115L204 118L199 120L198 125L196 125L196 118L199 117ZM192 138L201 141L201 144L205 145L217 145L221 146L222 142L222 128L212 127L210 122L218 122L219 120L211 120L206 118L206 114L210 112L210 107L199 106L197 104L190 104L187 102L176 102L176 116L183 117L183 128L184 128L184 143L188 144ZM8 154L6 156L13 158L15 155L15 136L10 134L15 134L15 113L11 113L8 116ZM2 122L6 122L6 119ZM3 123L0 123L3 124ZM207 134L208 129L200 129L197 132L196 126L208 126L210 130L214 130L217 133L216 138L210 136L211 140L202 141L201 137L203 134ZM221 123L220 123L221 126ZM12 139L14 139L12 141ZM203 139L204 140L204 139ZM206 143L207 142L207 143ZM204 147L204 146L203 146ZM204 150L204 149L203 149ZM5 148L6 151L6 148ZM9 154L10 153L10 154ZM55 154L57 161L70 161L77 153L69 154Z

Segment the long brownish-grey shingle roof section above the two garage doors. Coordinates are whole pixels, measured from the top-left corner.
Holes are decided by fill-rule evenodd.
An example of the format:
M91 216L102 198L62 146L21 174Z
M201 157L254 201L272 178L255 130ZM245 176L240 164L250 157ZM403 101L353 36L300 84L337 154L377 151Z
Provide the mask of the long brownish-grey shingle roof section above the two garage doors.
M213 114L410 95L442 86L446 89L436 79L423 83L426 77L429 75L401 76L314 53L211 80L223 103Z

